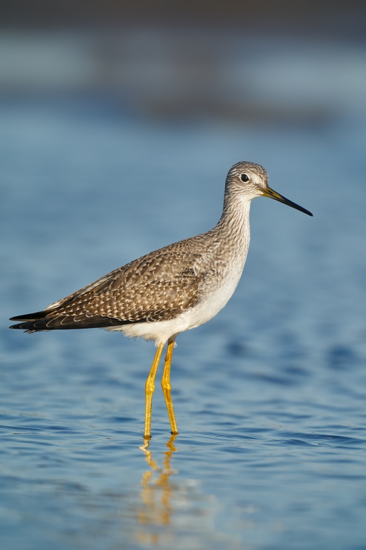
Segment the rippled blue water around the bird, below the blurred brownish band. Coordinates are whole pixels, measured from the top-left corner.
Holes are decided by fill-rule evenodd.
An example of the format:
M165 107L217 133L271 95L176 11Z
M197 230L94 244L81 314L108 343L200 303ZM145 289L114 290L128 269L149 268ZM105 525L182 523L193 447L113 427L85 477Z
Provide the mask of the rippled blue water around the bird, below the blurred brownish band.
M1 547L365 548L363 118L160 127L88 98L0 114ZM253 203L235 295L178 338L180 434L157 385L144 452L151 343L7 319L211 228L239 160L314 219Z

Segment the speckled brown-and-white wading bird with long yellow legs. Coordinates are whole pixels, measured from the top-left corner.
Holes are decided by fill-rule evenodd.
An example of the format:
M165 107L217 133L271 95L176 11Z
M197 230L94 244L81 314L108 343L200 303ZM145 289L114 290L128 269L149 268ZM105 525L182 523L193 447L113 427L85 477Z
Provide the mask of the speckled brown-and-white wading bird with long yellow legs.
M313 215L273 191L262 166L241 161L227 174L222 215L211 230L135 259L43 311L12 317L18 324L10 329L102 328L154 340L157 349L145 384L144 441L151 439L155 376L167 342L162 390L171 434L177 434L170 379L175 338L211 320L235 291L249 248L251 201L258 196Z

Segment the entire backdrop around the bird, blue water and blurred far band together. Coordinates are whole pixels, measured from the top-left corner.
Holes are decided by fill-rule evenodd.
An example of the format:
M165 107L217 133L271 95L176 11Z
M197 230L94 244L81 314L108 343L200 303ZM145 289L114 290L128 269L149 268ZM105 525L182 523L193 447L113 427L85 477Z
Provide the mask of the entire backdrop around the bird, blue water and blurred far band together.
M364 1L1 3L4 548L365 547L365 149ZM240 160L314 218L254 201L150 455L151 343L8 318L213 227Z

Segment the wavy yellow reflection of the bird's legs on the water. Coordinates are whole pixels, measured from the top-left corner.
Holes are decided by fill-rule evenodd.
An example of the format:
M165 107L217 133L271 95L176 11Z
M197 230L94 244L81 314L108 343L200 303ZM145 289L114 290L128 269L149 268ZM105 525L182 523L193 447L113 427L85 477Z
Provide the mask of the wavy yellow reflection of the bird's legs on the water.
M157 544L160 527L164 528L171 522L171 499L174 488L170 478L171 475L177 473L177 470L171 468L171 455L177 451L174 445L176 437L176 435L172 435L166 443L168 450L163 452L162 466L158 466L153 459L153 453L148 448L148 439L145 439L144 445L140 447L145 453L149 469L142 475L142 504L138 509L138 523L140 526L153 527L153 532L144 530L137 533L139 542L144 544Z

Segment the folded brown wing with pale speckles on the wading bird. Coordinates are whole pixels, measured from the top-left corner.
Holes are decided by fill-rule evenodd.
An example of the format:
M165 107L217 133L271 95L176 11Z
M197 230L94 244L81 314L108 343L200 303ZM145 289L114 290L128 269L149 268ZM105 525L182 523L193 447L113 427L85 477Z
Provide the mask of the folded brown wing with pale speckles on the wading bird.
M169 320L198 302L200 257L185 241L122 266L38 312L19 316L28 331L111 327ZM18 327L17 327L18 328Z

